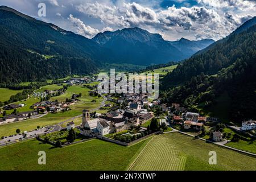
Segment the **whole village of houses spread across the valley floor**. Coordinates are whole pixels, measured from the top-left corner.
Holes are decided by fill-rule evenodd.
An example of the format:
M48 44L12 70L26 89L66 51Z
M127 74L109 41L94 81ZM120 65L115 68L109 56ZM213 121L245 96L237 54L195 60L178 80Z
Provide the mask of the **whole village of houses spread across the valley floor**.
M28 132L28 135L26 131L22 136L24 138L27 136L36 137L59 147L72 144L77 140L82 142L91 138L99 138L128 146L153 134L179 131L192 137L226 144L231 140L234 142L240 138L244 139L244 135L255 130L255 121L243 121L241 127L229 126L222 123L218 118L200 115L180 104L164 104L160 98L150 100L149 94L101 95L97 92L97 84L90 84L96 81L95 78L71 78L57 84L63 88L34 92L32 96L41 98L40 102L30 105L31 110L24 112L16 112L17 109L24 107L22 102L3 107L5 110L12 109L14 112L0 119L0 125L39 118L46 114L68 112L72 106L79 103L81 93L73 93L71 98L66 98L65 101L50 101L49 98L65 94L70 86L80 85L82 88L89 89L89 96L104 98L105 102L98 107L98 110L82 110L81 114L77 116L81 117L81 123L71 120L65 122L64 125L55 125L46 127L46 129L39 127L40 130L36 134L36 130ZM92 100L92 102L94 101L96 100ZM104 109L107 111L105 112ZM236 130L237 134L231 134L227 128ZM72 135L73 137L71 137ZM249 135L251 138L255 137L254 134ZM2 137L2 139L13 142L16 137L11 135L10 137Z

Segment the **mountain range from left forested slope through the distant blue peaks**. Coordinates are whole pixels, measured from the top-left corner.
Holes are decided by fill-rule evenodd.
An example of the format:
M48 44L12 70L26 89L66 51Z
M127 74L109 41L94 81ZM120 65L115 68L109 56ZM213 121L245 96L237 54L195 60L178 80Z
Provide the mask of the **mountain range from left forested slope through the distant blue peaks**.
M0 31L1 83L96 73L105 63L180 61L213 43L186 39L168 42L159 34L136 27L106 31L88 39L6 6L0 6Z

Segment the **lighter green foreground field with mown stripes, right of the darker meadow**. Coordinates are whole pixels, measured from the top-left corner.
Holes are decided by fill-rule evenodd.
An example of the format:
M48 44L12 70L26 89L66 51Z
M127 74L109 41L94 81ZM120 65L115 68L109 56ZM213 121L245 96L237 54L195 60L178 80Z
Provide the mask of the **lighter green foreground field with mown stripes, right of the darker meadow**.
M216 151L217 165L210 165ZM179 133L157 135L148 142L130 170L255 170L256 159Z

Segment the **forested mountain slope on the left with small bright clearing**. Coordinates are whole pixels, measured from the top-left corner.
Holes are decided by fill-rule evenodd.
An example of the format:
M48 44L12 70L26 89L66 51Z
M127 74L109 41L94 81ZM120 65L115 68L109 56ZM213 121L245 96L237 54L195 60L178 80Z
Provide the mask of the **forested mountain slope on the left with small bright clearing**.
M0 32L1 84L95 73L97 56L105 51L84 36L5 6L0 7Z

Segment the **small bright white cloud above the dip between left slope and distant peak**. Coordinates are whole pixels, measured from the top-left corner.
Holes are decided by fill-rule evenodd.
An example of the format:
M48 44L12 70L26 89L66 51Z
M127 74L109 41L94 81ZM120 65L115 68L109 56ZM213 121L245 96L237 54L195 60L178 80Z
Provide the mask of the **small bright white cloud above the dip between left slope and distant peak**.
M100 32L96 28L86 26L84 22L82 22L79 18L75 18L72 14L70 14L67 19L73 24L73 27L76 28L76 33L84 35L86 38L92 38L94 35Z

